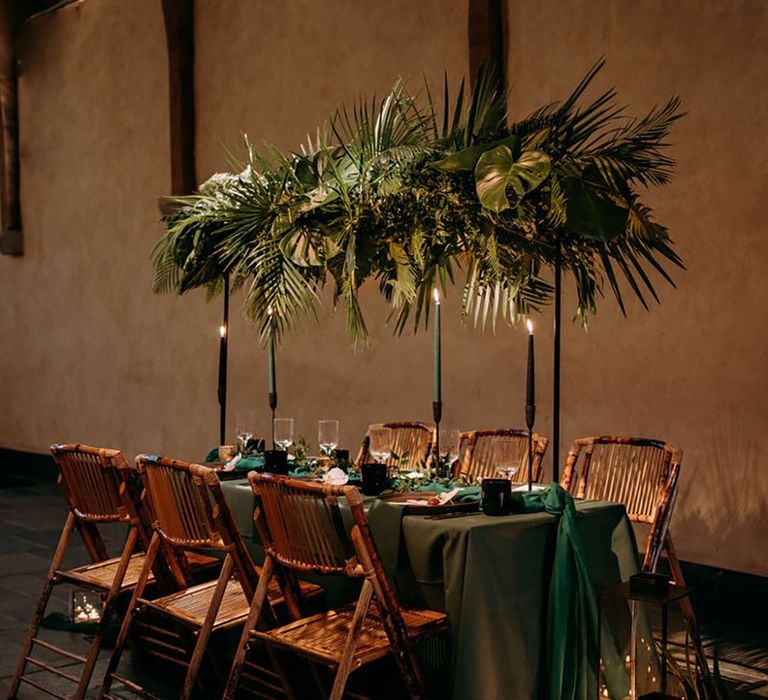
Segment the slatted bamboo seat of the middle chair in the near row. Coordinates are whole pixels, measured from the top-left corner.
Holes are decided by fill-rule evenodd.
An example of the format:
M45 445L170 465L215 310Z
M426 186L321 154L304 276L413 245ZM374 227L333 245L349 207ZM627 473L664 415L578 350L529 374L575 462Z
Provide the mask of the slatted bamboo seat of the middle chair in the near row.
M162 614L181 618L195 627L202 627L205 616L211 607L211 599L216 590L216 584L217 581L215 580L207 581L178 593L145 601L144 604L145 607L157 610ZM322 592L320 586L306 581L301 581L299 586L303 595L313 596ZM280 590L277 579L270 581L267 595L272 605L279 605L284 601L283 592ZM234 578L230 579L224 590L224 598L216 614L213 629L229 627L242 622L247 617L250 607L240 582Z

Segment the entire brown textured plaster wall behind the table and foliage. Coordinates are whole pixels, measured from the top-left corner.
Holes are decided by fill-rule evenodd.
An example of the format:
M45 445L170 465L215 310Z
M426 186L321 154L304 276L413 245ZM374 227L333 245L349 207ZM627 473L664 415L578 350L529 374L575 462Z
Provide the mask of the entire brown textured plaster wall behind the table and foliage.
M241 132L293 148L342 102L392 78L466 71L465 1L197 0L198 177L227 167ZM662 305L607 300L564 334L563 453L573 437L657 436L685 451L675 535L683 558L768 574L766 311L761 216L768 111L764 4L509 1L510 108L562 97L601 54L601 86L638 112L681 93L679 175L649 197L683 255ZM220 304L150 290L156 199L169 182L165 41L159 3L86 0L36 20L21 46L22 202L27 251L0 257L0 445L54 441L199 458L217 441ZM454 81L455 84L455 81ZM525 334L482 334L444 313L444 422L523 422ZM239 297L234 298L236 309ZM428 420L431 342L393 339L375 289L372 336L354 354L326 304L279 350L281 415L314 439L342 421ZM572 304L566 304L566 318ZM230 416L268 429L264 353L232 323ZM551 434L551 314L537 323L539 428ZM232 420L230 420L232 424ZM562 455L564 459L564 454Z

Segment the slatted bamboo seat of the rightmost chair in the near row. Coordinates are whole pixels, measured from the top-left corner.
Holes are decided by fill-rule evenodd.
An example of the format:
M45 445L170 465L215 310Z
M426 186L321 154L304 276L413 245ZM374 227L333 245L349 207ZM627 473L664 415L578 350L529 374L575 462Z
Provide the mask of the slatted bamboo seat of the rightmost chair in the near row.
M261 631L252 630L251 636L304 654L328 666L338 666L349 637L355 605L291 622L282 627ZM401 608L403 622L409 637L426 637L444 632L447 628L445 613L435 610L409 610ZM370 663L392 653L391 643L381 616L373 606L368 610L353 656L352 668Z

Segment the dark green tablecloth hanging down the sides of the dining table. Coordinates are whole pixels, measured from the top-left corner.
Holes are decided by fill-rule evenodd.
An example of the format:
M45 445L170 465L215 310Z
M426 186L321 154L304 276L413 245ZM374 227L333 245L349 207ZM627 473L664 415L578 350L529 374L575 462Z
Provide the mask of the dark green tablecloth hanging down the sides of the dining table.
M243 535L252 537L247 484L222 484ZM402 518L377 502L369 521L404 605L444 610L453 647L452 696L533 698L545 678L544 633L557 519L547 513ZM577 526L598 588L637 571L624 507L579 502ZM542 697L542 694L539 694Z

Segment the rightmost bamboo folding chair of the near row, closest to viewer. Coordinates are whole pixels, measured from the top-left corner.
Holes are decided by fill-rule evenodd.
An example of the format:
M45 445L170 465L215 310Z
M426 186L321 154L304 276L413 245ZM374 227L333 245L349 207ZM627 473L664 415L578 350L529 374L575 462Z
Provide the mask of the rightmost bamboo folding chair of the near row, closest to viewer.
M256 472L248 479L256 499L254 519L266 559L224 698L237 692L241 674L247 669L248 650L259 640L335 670L331 700L340 700L353 670L389 654L397 663L408 695L424 697L414 644L444 632L446 615L398 605L358 490ZM342 500L352 512L351 531L342 519ZM359 598L353 605L263 629L259 623L272 577L283 579L299 572L362 580Z

